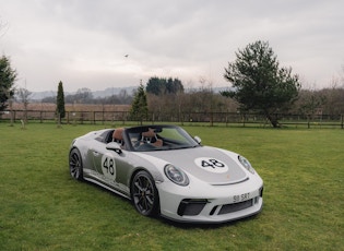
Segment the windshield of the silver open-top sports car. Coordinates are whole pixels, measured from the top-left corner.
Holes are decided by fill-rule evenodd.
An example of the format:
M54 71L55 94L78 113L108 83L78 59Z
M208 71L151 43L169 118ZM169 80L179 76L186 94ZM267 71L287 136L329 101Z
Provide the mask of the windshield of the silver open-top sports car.
M183 129L175 125L145 125L126 129L131 150L138 152L199 146Z

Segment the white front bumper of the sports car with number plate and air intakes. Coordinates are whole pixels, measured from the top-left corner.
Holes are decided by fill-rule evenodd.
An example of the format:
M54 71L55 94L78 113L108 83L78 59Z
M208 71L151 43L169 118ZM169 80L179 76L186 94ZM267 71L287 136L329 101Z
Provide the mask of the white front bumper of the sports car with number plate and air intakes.
M176 187L157 184L163 217L188 223L224 223L258 214L263 205L263 183Z

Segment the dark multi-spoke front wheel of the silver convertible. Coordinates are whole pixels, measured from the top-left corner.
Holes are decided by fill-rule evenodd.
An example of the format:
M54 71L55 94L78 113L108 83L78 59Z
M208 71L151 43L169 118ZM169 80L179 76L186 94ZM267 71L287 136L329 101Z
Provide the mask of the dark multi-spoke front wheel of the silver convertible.
M139 171L131 182L131 198L137 211L144 216L155 216L158 213L158 193L152 176Z

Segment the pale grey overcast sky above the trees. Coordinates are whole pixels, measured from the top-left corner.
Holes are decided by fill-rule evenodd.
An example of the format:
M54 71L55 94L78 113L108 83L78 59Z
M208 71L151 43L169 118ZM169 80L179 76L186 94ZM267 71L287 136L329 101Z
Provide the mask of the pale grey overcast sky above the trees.
M228 86L235 52L269 41L306 87L343 74L343 0L0 0L0 50L31 92L145 84ZM124 57L129 55L128 57ZM26 83L26 85L25 85Z

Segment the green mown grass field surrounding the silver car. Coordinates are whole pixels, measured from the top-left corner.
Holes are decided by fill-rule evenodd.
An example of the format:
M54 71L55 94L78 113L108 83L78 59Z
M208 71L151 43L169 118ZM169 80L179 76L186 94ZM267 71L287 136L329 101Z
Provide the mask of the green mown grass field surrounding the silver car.
M104 127L0 123L0 250L344 249L344 130L186 127L264 180L261 214L209 226L143 217L72 180L71 140Z

